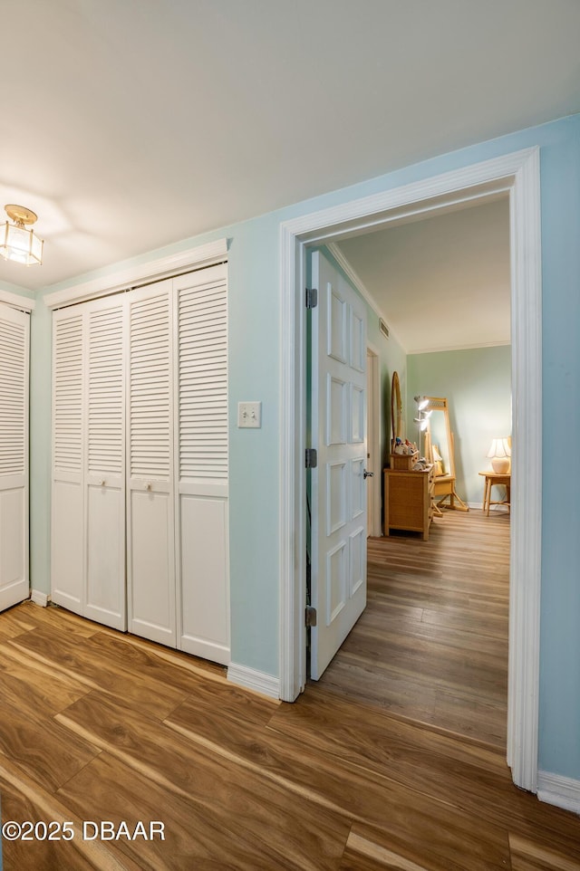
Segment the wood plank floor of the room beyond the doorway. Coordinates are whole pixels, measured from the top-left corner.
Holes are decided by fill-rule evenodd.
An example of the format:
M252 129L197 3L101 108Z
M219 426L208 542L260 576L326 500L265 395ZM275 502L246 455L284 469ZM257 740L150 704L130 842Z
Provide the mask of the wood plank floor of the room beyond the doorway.
M509 514L369 539L368 605L321 685L506 747Z

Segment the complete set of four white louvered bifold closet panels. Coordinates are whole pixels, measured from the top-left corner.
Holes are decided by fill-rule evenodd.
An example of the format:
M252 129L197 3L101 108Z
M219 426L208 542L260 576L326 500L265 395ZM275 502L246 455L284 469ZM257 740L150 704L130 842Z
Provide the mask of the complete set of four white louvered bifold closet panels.
M53 319L53 601L227 664L226 265Z

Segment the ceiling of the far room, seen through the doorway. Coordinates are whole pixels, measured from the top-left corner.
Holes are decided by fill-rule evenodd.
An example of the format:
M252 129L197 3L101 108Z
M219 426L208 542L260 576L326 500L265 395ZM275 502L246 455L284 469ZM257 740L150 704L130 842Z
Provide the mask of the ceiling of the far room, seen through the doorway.
M509 342L507 194L338 249L407 353Z

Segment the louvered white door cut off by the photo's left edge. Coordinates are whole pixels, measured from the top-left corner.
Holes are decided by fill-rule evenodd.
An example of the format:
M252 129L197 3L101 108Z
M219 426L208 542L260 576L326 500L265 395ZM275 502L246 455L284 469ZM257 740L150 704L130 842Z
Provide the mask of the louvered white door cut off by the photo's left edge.
M0 304L0 610L29 594L29 330L29 315Z

